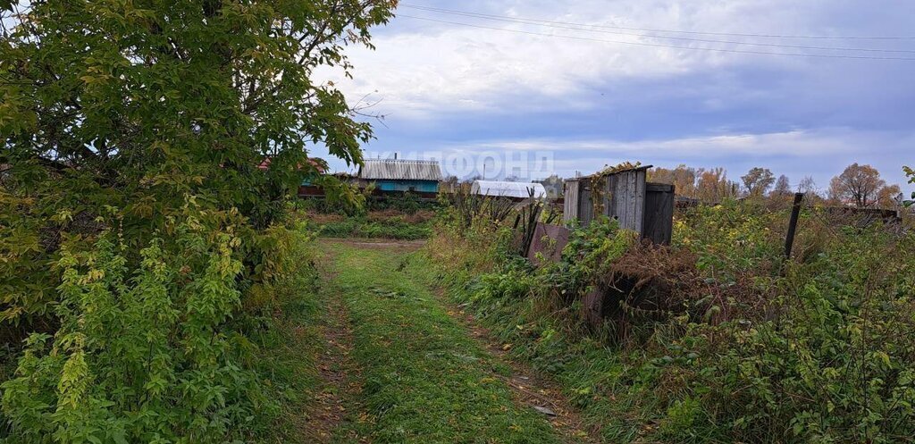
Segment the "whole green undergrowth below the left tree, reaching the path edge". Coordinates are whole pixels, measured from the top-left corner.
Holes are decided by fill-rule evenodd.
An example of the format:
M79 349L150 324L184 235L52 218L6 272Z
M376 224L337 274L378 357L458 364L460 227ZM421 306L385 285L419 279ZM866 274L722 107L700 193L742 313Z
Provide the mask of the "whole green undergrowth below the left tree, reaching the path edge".
M29 336L2 386L7 439L226 442L270 430L283 388L298 383L277 381L283 369L258 350L277 346L276 313L296 311L317 276L302 228L236 222L188 210L139 264L120 233L63 244L60 327ZM243 272L246 236L258 265Z

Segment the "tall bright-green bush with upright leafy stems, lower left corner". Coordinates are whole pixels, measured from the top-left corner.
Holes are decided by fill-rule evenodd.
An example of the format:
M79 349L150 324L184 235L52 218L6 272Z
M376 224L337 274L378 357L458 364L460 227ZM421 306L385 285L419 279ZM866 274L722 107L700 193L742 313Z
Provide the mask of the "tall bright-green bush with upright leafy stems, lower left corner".
M197 216L129 263L119 233L68 245L51 337L29 337L3 384L17 442L224 442L266 404L221 326L241 303L241 244ZM167 242L168 241L168 242Z

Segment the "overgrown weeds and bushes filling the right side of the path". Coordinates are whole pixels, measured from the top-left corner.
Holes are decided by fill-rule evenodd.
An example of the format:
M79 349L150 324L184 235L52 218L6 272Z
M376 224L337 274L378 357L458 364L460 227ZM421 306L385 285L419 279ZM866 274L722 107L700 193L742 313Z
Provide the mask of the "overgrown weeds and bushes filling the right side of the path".
M440 223L428 254L609 441L909 440L915 235L834 223L806 210L789 263L787 209L764 202L694 209L671 247L621 242L597 222L536 269L480 248L510 236L501 228ZM595 289L616 311L584 329L576 308Z

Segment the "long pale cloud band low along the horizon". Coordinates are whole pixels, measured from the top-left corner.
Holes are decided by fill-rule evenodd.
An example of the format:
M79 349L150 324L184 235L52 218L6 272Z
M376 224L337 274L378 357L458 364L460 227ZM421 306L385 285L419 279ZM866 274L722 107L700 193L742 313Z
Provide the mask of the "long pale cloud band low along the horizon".
M879 151L868 150L879 146ZM553 172L573 176L575 171L594 172L604 165L640 161L659 167L679 164L691 167L726 167L737 178L751 167L771 168L776 174L787 174L799 180L811 175L826 184L835 174L853 162L869 163L884 173L890 182L903 182L900 159L892 153L915 146L915 133L860 132L848 128L797 130L766 134L709 135L672 139L620 141L613 139L512 139L484 140L458 144L430 144L416 152L401 152L405 157L448 159L458 164L478 166L482 157L491 158L490 173L512 174L501 165L518 166L524 159L536 164L533 171L522 171L522 178L538 179ZM879 154L884 153L884 154ZM370 152L370 156L375 153ZM382 155L385 153L382 153ZM548 157L550 165L541 168L540 159ZM481 168L480 168L481 170ZM479 171L477 171L479 172ZM472 168L451 174L474 174Z

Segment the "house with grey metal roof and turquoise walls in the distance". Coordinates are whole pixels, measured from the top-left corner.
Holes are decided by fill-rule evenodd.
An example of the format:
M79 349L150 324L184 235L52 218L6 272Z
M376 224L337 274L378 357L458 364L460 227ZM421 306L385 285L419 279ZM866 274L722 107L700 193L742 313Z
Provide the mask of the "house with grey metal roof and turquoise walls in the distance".
M436 193L442 168L436 160L366 159L357 176L381 191Z

